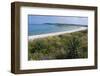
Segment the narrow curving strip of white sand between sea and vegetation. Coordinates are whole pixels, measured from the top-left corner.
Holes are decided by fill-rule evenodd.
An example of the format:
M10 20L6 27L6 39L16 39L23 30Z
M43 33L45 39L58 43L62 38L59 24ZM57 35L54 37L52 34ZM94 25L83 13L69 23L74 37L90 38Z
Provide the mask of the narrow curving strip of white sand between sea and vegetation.
M86 30L86 29L87 29L87 27L81 27L81 28L71 30L71 31L56 32L56 33L49 33L49 34L42 34L42 35L33 35L33 36L29 36L28 39L34 40L36 38L43 38L43 37L48 37L48 36L61 35L61 34L65 34L65 33L72 33L72 32L77 32L77 31Z

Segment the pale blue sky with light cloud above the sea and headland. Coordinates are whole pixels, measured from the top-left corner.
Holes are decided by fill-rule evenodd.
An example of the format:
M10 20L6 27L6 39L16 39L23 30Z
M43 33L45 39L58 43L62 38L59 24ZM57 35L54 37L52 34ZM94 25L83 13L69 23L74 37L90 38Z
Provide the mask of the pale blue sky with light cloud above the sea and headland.
M88 17L29 15L28 23L29 24L65 23L65 24L88 25Z

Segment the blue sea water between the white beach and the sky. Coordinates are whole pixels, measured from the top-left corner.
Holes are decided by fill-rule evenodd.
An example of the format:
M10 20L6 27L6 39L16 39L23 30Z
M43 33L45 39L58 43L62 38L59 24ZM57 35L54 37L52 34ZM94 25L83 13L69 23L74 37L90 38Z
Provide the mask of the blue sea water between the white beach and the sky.
M65 24L65 25L64 24L63 25L29 24L28 25L28 36L69 31L69 30L80 28L80 27L82 26L69 25L69 24Z

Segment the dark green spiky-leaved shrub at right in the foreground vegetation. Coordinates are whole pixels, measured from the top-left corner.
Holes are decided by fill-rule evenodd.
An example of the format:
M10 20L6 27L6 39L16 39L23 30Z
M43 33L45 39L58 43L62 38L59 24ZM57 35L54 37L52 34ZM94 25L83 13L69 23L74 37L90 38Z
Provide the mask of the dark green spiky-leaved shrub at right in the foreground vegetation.
M78 37L72 37L68 42L68 55L67 59L80 58L79 51L81 48L81 40Z

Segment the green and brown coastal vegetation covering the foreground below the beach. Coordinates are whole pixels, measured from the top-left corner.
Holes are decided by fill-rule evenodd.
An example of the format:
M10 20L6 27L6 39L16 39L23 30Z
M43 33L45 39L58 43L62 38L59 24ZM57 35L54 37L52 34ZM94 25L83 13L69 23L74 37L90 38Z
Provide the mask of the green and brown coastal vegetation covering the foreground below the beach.
M87 30L28 41L28 60L88 57Z

